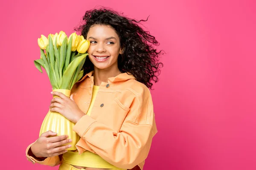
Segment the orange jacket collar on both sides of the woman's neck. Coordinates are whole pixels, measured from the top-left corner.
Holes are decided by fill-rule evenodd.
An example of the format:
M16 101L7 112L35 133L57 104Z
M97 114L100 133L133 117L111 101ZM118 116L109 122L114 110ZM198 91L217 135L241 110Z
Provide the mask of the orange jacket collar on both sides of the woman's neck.
M83 81L86 77L89 77L91 79L93 73L94 73L94 71L90 71L78 82ZM121 73L121 74L118 74L116 77L109 77L108 82L113 82L113 83L114 82L122 82L122 81L127 81L129 79L136 79L136 78L130 73Z

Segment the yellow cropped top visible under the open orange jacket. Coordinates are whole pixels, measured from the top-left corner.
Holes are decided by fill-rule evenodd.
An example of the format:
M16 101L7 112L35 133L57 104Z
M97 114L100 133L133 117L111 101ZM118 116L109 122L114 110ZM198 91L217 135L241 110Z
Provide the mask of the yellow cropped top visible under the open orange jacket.
M93 108L93 104L94 104L94 101L95 101L98 91L99 91L99 86L93 85L93 96L92 96L89 110L87 111L88 116L90 116L90 112ZM81 167L124 170L124 169L115 167L114 165L112 165L112 164L108 163L107 161L105 161L104 159L102 159L99 155L91 153L88 150L86 150L81 155L79 155L78 152L69 150L63 154L62 159L64 162L66 162L68 164L81 166Z

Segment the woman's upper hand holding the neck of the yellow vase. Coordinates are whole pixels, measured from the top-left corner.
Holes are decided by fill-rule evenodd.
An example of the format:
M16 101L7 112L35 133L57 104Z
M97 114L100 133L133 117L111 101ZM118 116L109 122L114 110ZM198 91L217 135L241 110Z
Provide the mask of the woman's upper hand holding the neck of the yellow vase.
M58 91L53 91L51 94L58 96L51 100L49 107L51 112L58 112L73 123L78 122L85 115L74 102L73 94L70 98Z

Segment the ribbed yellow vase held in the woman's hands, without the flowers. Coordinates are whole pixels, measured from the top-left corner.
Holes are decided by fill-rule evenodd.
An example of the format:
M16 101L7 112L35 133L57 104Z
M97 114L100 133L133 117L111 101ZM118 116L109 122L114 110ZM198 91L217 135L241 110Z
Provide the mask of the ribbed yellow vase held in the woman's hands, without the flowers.
M71 92L70 90L66 90L66 89L55 89L52 91L61 92L68 97L70 97L70 92ZM58 96L53 96L53 98L55 97L58 97ZM75 145L79 141L80 136L73 131L74 125L75 124L73 122L70 122L60 113L51 112L49 110L49 112L45 116L44 121L41 125L39 136L41 136L42 133L47 132L48 130L52 130L52 132L56 132L57 136L68 135L69 139L72 139L72 142L68 144L71 144L72 147L68 148L67 150L76 150ZM64 145L67 145L67 144L64 144Z

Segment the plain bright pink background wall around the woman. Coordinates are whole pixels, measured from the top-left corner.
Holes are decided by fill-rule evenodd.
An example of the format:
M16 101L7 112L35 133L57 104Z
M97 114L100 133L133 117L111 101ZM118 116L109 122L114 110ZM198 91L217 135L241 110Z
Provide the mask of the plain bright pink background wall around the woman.
M2 3L2 2L1 2ZM166 51L152 91L159 133L145 170L256 169L256 6L233 0L8 0L1 13L0 169L57 170L26 161L51 100L41 34L68 35L96 5L146 19Z

